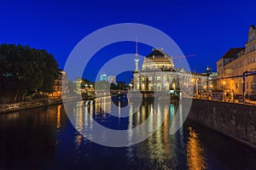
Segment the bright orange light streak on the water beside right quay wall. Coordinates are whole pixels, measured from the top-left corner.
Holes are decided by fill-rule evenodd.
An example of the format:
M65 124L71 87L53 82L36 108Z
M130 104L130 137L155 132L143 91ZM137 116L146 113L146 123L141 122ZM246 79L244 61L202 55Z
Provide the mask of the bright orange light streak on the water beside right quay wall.
M189 127L189 138L187 144L187 165L189 170L207 169L204 150L198 139L198 134L192 127Z

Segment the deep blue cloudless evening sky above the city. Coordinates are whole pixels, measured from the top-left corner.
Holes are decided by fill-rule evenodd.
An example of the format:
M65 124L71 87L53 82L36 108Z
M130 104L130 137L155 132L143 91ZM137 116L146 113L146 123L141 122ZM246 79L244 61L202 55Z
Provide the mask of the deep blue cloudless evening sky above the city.
M112 24L135 22L166 32L183 54L195 54L188 59L192 71L203 72L207 65L216 71L216 61L229 48L244 46L248 26L256 25L255 8L253 0L1 0L0 43L45 48L63 68L74 46L92 31ZM118 48L116 54L134 53L131 44L125 48L129 49ZM99 57L111 56L111 51L106 53ZM101 64L100 60L96 59ZM93 80L94 74L89 73L87 78Z

